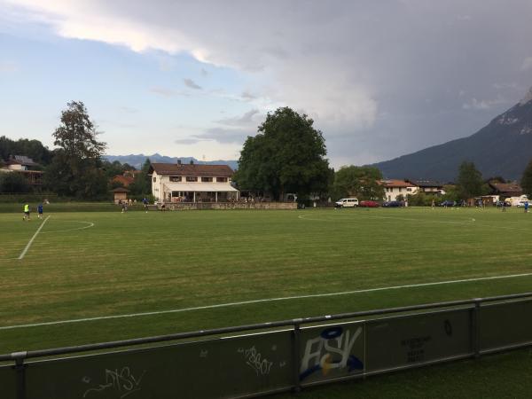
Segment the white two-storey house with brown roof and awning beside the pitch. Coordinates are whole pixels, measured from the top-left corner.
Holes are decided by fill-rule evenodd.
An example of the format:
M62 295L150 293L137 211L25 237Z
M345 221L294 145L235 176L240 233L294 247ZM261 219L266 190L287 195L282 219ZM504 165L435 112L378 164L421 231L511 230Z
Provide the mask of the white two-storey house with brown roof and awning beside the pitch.
M161 202L239 200L239 191L231 185L233 170L227 165L152 163L148 175L153 197Z

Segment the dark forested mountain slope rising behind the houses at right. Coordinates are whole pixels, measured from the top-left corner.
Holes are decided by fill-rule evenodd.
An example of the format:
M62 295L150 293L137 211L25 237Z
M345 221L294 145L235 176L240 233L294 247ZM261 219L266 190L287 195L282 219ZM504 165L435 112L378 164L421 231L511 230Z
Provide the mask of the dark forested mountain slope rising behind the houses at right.
M473 161L484 178L520 180L532 160L532 88L525 98L472 136L375 163L387 178L454 181L458 166Z

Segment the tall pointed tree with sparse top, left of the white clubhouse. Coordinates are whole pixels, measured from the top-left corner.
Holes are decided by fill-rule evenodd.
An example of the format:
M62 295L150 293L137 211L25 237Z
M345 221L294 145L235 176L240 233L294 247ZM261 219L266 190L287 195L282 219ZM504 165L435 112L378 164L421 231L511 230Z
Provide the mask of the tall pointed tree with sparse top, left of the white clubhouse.
M81 101L67 104L53 137L58 148L46 170L48 187L60 195L81 199L105 196L107 182L101 156L106 143L98 141L98 132Z

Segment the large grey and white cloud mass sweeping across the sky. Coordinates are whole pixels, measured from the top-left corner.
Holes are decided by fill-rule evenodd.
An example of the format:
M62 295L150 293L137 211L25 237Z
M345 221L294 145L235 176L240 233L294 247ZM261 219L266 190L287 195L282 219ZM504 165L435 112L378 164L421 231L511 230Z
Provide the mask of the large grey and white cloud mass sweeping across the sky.
M190 55L212 82L230 70L226 93L197 93L258 113L215 121L184 140L242 140L261 114L291 106L315 120L330 157L386 160L472 134L488 122L475 111L502 112L519 99L512 91L531 84L529 74L516 74L516 66L532 69L532 4L522 0L507 0L504 18L495 0L4 1L16 23L38 21L61 37ZM162 69L173 68L165 62ZM198 82L184 82L188 95Z

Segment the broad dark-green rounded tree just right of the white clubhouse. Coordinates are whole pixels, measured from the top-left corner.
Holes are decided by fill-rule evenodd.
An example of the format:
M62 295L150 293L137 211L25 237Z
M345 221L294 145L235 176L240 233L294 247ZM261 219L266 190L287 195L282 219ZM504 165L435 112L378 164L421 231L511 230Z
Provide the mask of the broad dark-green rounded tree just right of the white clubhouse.
M289 107L268 113L255 137L247 137L233 180L243 190L304 196L326 192L331 175L325 139L314 121Z

